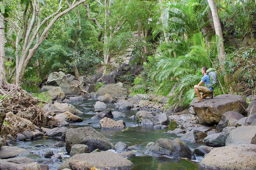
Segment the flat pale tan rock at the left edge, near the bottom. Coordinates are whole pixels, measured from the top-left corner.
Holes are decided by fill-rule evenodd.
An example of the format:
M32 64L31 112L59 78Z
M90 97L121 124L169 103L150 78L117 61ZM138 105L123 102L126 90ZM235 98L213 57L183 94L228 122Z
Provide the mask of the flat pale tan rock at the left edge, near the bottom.
M2 146L0 148L0 158L1 159L11 158L11 157L28 154L28 153L29 153L28 150L23 149L23 148L18 148L18 147Z

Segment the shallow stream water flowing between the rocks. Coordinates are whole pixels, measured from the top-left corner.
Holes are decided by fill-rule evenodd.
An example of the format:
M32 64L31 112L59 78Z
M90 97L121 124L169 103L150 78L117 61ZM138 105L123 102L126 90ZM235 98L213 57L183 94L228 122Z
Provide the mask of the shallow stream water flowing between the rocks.
M83 122L70 123L68 128L79 128L91 126L95 130L99 131L105 137L107 137L111 143L114 145L119 141L126 143L128 146L136 145L136 156L129 158L129 160L134 164L132 170L208 170L198 165L203 157L196 156L196 160L187 161L185 159L180 159L175 156L159 156L156 154L144 155L141 151L146 147L148 142L156 142L159 138L168 138L175 139L179 136L176 134L167 133L168 130L174 130L177 128L178 124L175 122L166 124L168 128L166 129L154 129L153 125L144 125L138 126L135 119L130 119L129 117L136 115L138 111L131 110L118 110L126 115L126 118L113 118L117 121L122 119L126 123L124 129L101 129L99 125L100 119L91 119L94 116L94 107L96 100L84 100L79 102L70 103L75 106L78 110L82 111L84 114L77 115L83 119ZM105 103L108 105L108 108L115 109L113 103ZM89 110L83 110L83 107L89 108ZM28 155L20 155L31 158L38 163L48 164L50 158L45 158L43 153L46 150L51 149L54 154L61 153L62 161L68 159L70 156L66 155L65 147L55 147L54 144L56 141L65 142L65 140L57 137L43 137L34 140L25 140L14 142L13 146L25 148L30 151ZM188 142L185 141L191 150L194 150L196 147L205 145L204 142ZM41 147L35 147L37 144L43 144ZM112 150L114 151L114 150ZM115 152L115 151L114 151ZM61 162L50 163L50 170L57 170Z

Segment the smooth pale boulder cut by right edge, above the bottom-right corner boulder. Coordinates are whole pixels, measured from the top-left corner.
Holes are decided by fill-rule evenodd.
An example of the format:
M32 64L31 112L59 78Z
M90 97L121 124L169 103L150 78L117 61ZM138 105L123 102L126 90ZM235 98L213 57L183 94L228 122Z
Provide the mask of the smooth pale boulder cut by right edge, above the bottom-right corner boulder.
M230 132L226 145L256 144L256 126L241 126Z

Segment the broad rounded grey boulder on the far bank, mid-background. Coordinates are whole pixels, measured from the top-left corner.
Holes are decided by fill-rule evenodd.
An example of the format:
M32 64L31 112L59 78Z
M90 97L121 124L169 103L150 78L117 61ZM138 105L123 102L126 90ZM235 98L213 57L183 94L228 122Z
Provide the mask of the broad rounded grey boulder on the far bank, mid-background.
M110 94L113 97L123 97L127 96L129 89L124 86L123 83L119 82L117 84L106 84L103 85L97 92L97 97L104 96L105 94Z

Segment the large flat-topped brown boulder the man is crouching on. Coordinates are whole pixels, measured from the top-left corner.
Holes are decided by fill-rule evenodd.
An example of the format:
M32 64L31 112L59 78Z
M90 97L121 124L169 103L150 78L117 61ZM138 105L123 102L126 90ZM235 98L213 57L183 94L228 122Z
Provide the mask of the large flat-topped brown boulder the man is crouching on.
M193 100L191 106L201 123L211 125L219 123L222 115L228 111L242 114L248 104L242 96L227 94L216 96L213 99L204 99L199 103Z

